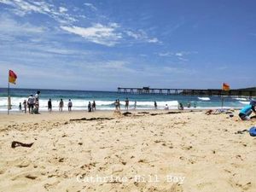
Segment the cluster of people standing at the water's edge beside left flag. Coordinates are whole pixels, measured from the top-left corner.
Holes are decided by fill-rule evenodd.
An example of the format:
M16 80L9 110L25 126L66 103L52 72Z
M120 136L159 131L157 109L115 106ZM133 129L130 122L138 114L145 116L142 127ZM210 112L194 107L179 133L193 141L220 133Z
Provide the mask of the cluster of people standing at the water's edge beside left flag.
M28 108L28 113L39 113L39 95L40 91L38 90L37 93L33 96L30 95L26 100L23 102L24 113L26 113L26 109ZM22 111L21 102L19 105L20 111Z

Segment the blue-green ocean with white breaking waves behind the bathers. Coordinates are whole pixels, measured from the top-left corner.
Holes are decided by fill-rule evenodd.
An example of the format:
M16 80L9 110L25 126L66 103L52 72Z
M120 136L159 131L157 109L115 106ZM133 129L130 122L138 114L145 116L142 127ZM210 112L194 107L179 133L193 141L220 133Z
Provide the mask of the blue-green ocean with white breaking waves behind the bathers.
M90 91L90 90L40 90L40 111L47 111L47 102L52 100L53 110L57 111L61 98L64 101L63 110L67 110L68 99L73 102L73 110L87 110L88 102L96 101L98 110L114 110L114 101L120 100L121 108L125 107L125 98L130 101L129 108L134 108L137 101L137 109L154 109L154 101L159 109L164 109L166 104L170 109L177 109L179 102L186 108L191 103L190 108L221 108L221 98L219 96L172 96L160 94L130 94L118 93L114 91ZM11 111L19 111L19 103L27 100L28 96L35 95L34 89L10 89ZM0 88L0 112L7 111L6 88ZM255 99L255 98L254 98ZM224 97L224 108L242 108L250 100L247 97ZM23 108L23 107L22 107Z

